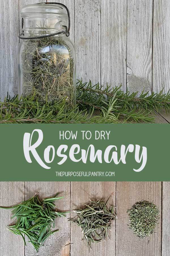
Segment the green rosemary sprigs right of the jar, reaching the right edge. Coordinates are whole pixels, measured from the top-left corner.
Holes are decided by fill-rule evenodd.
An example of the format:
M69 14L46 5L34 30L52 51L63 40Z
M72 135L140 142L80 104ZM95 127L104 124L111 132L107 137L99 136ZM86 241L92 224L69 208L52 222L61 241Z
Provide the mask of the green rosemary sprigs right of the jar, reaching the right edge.
M104 88L99 83L92 85L91 81L82 83L80 80L76 88L80 109L95 108L102 112L102 109L107 108L110 100L114 98L113 112L116 117L124 118L125 121L154 122L154 116L151 115L154 110L165 109L167 112L170 110L170 93L163 94L163 90L158 94L153 92L151 95L148 95L148 92L142 92L137 97L138 92L124 93L121 86L114 88L107 84Z

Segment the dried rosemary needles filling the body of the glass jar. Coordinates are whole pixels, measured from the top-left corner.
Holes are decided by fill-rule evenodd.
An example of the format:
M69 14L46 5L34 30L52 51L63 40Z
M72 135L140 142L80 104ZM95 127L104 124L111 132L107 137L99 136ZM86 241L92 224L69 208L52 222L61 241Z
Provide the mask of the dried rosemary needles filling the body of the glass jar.
M26 40L21 55L24 97L36 94L40 101L65 98L67 108L75 104L74 60L61 36Z

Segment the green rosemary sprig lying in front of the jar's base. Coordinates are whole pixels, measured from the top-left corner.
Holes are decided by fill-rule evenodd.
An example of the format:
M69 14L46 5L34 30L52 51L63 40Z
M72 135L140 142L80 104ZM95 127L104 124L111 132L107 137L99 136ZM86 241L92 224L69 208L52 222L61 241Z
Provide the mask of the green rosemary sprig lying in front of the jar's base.
M18 98L7 96L0 102L0 123L116 123L117 117L112 113L114 101L110 101L107 109L103 108L101 115L94 116L92 112L79 111L78 105L68 109L67 100L42 102L33 94Z

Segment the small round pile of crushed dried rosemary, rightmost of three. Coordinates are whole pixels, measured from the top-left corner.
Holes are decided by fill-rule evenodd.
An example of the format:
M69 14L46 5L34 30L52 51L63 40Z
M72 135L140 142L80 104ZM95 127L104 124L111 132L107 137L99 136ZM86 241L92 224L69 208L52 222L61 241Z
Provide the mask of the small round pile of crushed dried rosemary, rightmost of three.
M159 210L153 203L141 201L135 203L129 214L129 228L139 238L150 236L158 224Z

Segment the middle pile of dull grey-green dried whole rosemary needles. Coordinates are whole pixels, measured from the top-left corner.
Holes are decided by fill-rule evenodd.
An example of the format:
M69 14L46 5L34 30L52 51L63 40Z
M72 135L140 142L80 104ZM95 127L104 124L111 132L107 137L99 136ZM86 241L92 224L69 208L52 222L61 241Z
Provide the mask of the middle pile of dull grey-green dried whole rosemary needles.
M90 248L92 243L99 243L104 238L109 238L108 229L111 228L112 220L117 218L115 207L107 207L109 199L106 202L90 200L88 205L84 204L83 209L73 211L77 214L77 218L69 219L82 229L82 240L85 239Z

